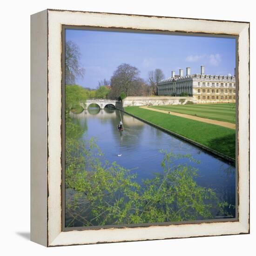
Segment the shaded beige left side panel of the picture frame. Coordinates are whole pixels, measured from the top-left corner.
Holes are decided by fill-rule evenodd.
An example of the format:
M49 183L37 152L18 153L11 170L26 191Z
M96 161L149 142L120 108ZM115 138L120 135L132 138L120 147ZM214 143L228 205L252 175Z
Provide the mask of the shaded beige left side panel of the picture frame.
M47 10L30 16L30 240L47 246Z

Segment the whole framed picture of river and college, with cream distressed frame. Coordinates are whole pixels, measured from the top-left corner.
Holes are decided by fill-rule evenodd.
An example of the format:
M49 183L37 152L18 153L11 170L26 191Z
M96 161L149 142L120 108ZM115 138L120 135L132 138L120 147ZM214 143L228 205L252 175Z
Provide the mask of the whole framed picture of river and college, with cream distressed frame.
M249 233L249 22L31 16L31 240Z

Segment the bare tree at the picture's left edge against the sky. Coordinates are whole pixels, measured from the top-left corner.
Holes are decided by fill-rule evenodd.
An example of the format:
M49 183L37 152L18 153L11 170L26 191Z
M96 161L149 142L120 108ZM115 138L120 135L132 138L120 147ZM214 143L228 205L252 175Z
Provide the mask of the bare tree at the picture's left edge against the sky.
M81 67L79 60L81 52L77 44L67 41L65 45L65 83L74 84L77 77L83 77L85 69Z

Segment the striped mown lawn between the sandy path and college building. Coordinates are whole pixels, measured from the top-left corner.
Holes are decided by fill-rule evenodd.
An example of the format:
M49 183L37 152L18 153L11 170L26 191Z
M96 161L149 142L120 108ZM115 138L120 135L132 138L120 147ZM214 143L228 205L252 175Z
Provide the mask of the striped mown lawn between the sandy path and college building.
M150 108L157 108L166 111L178 112L181 114L196 115L203 118L236 123L235 103L166 105L151 106Z

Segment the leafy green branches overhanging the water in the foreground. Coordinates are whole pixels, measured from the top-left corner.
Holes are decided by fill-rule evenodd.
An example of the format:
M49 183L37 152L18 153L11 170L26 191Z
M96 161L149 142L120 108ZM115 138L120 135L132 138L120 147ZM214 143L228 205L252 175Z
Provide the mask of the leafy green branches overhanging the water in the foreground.
M211 219L213 210L223 216L231 207L212 189L197 185L196 168L175 163L181 158L196 162L189 155L163 152L162 173L139 183L131 170L102 164L93 139L66 143L67 226Z

